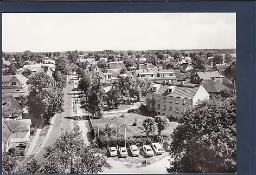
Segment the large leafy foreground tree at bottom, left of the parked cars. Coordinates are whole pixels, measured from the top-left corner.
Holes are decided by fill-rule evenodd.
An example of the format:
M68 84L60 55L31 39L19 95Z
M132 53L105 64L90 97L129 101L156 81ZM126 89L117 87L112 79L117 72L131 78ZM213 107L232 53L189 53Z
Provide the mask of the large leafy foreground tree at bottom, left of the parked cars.
M103 171L106 158L98 149L85 145L79 126L63 132L46 147L43 174L97 174Z

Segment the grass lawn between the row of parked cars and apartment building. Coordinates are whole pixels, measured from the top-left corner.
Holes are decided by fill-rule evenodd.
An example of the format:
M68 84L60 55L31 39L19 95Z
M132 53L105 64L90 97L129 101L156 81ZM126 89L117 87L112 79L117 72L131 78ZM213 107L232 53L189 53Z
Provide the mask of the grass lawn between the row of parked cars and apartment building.
M135 122L135 118L137 118L137 126L133 126L132 124ZM142 130L141 125L144 119L149 118L136 113L125 113L125 118L116 116L110 118L100 118L93 119L92 123L94 126L99 125L99 127L104 127L105 124L112 124L118 127L119 134L124 136L124 123L126 123L126 137L139 137L145 136L146 133ZM171 133L175 127L178 125L177 122L170 122L170 126L168 129L162 131L162 133ZM155 131L157 133L157 130Z

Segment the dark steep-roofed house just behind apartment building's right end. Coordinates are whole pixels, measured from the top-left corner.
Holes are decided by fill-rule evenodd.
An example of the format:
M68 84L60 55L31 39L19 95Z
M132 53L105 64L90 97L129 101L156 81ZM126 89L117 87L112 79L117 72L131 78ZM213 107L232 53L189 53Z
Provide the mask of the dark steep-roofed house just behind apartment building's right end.
M229 87L232 89L234 87L233 84L229 82L225 77L212 77L212 79L204 79L202 80L201 85L210 95L219 95L223 88Z

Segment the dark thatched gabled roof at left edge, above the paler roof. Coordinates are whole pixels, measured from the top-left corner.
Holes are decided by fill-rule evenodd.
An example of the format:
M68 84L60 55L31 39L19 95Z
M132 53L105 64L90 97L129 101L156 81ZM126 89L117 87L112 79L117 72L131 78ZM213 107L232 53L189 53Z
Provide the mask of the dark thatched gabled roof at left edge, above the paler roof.
M12 113L23 112L22 107L11 93L3 93L2 95L2 116L9 117Z

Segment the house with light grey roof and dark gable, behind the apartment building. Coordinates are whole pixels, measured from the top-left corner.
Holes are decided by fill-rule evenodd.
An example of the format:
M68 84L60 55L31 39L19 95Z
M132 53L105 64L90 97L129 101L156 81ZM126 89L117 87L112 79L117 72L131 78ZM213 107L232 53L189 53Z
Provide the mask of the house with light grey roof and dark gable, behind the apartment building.
M200 84L202 80L215 78L223 78L218 71L197 72L194 77L190 77L190 83Z

